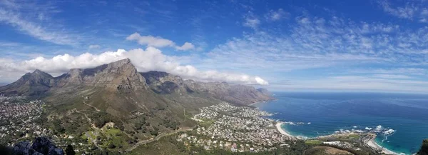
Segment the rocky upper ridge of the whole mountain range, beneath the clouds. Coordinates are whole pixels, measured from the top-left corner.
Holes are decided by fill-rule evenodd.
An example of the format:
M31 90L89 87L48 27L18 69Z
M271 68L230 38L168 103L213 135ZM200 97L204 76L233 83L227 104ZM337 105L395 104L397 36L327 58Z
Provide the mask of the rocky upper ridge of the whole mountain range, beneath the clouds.
M12 84L0 86L0 94L44 96L48 91L73 86L103 86L109 91L126 93L136 89L151 89L156 94L197 92L242 105L272 99L266 89L260 91L253 86L184 80L180 76L163 71L138 72L130 59L114 61L91 69L70 69L66 74L56 77L36 69Z

